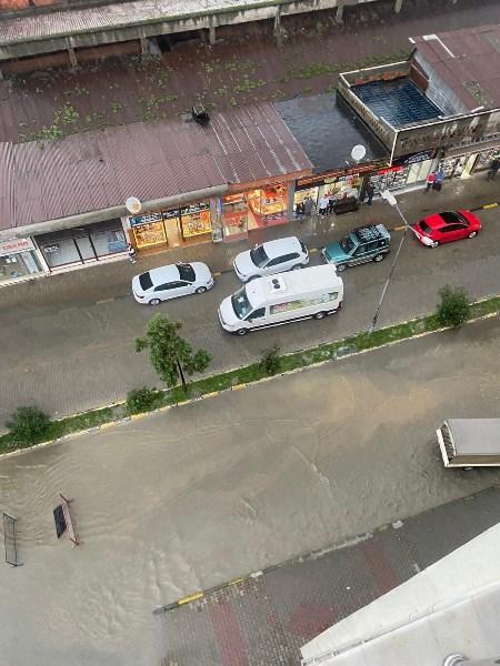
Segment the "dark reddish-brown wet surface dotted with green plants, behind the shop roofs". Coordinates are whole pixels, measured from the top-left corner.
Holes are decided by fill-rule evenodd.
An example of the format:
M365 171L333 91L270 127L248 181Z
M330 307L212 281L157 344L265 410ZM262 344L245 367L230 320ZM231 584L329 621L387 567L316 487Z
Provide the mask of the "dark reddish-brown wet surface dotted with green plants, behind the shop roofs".
M79 72L44 70L0 81L0 140L66 135L110 124L189 112L192 104L224 109L259 100L332 92L340 71L402 60L409 37L500 22L497 0L404 2L286 17L281 48L272 21L218 29L216 47L191 40L160 60L138 57L87 64ZM43 130L44 128L44 130Z

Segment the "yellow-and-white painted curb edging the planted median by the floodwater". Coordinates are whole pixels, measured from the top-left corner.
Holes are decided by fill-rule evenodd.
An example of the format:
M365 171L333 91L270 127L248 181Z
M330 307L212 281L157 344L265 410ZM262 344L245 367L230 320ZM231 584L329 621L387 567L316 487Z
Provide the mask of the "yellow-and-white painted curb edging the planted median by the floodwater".
M496 296L489 296L489 297L496 297ZM488 301L489 297L482 299L480 301L476 301L476 303L481 303L483 301ZM464 322L463 325L474 324L477 322L480 322L480 321L483 321L483 320L487 320L487 319L492 319L493 316L498 316L499 314L500 314L499 311L490 312L490 313L484 314L482 316L478 316L478 317L474 317L472 320L468 320L467 322ZM407 322L399 322L398 324L393 324L393 325L404 325L409 321L413 321L413 320L408 320ZM52 444L59 444L61 442L64 442L67 440L72 438L72 437L79 437L81 435L87 435L87 434L90 434L90 433L93 433L93 432L99 432L99 431L102 431L102 430L108 430L108 428L114 427L117 425L121 425L123 423L129 423L129 422L132 422L132 421L140 421L141 418L147 418L147 417L149 417L149 416L151 416L153 414L160 414L160 413L173 410L176 407L191 405L191 404L194 404L194 403L200 402L202 400L209 400L209 398L212 398L212 397L217 397L217 396L222 395L224 393L230 393L232 391L241 391L242 389L247 389L249 386L257 386L258 384L263 384L266 382L271 382L271 381L274 381L274 380L280 380L280 379L283 379L283 377L288 376L288 375L297 374L299 372L304 372L304 371L308 371L308 370L314 370L317 367L322 367L323 365L326 365L327 363L331 363L332 361L340 362L340 361L343 361L344 359L350 359L352 356L359 356L361 354L367 354L369 352L373 352L373 351L381 350L381 349L384 349L384 347L394 346L397 344L401 344L401 343L408 342L410 340L418 340L419 337L426 337L428 335L434 335L436 333L443 333L444 331L451 331L451 330L452 330L452 326L444 326L442 329L437 329L436 331L423 331L422 333L417 333L416 335L411 335L411 337L402 337L400 340L392 340L391 342L386 342L386 343L380 344L378 346L372 346L372 347L369 347L369 349L366 349L366 350L356 350L356 351L352 351L352 352L348 351L346 354L342 354L340 356L331 355L330 357L324 359L324 361L318 361L316 363L310 363L309 365L302 365L300 367L296 367L293 370L289 370L289 371L286 371L286 372L279 373L279 374L270 375L270 376L267 376L267 377L261 377L260 380L256 380L253 382L243 382L241 384L234 384L233 386L230 386L229 389L221 389L220 391L211 391L210 393L204 393L203 395L199 395L197 397L191 397L191 398L188 398L188 400L184 400L184 401L181 401L181 402L173 403L171 405L164 405L162 407L158 407L157 410L152 410L151 412L141 412L140 414L131 414L130 416L123 416L122 418L117 418L114 421L109 421L109 422L103 423L101 425L96 425L96 426L92 426L92 427L89 427L89 428L84 428L84 430L81 430L81 431L76 431L73 433L68 433L67 435L63 435L62 437L58 437L57 440L48 440L47 442L40 442L39 444L33 444L33 446L27 446L24 448L17 448L16 451L10 451L8 453L2 453L2 454L0 454L0 460L2 460L4 457L11 457L11 456L14 456L14 455L21 455L23 453L28 453L28 452L37 450L37 448L42 448L42 447L46 447L46 446L50 446ZM297 353L307 352L307 351L308 351L307 349L306 350L299 350L299 351L296 351L296 352L291 352L289 354L283 354L283 356L292 356L292 355L294 355ZM228 373L229 372L238 372L238 370L240 370L241 367L244 367L244 366L240 366L240 367L234 367L234 369L231 369L231 370L227 370L227 371L224 371L224 373L226 372L228 372ZM123 405L123 404L124 404L124 401L118 401L116 403L110 403L110 405L108 405L108 407L120 406L120 405ZM106 407L97 407L96 411L103 410L103 408L106 408ZM93 411L93 410L90 410L90 411ZM84 413L86 412L80 412L80 413L77 412L72 416L79 416L80 414L84 414ZM70 418L70 417L71 416L66 416L64 418Z

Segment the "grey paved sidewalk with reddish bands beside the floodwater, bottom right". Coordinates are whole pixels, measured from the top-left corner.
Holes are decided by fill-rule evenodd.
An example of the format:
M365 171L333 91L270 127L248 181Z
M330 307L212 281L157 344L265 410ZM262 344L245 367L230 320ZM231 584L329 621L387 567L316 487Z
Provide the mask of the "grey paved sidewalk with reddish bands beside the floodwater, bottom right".
M500 488L272 567L164 615L164 666L291 666L300 646L497 524Z

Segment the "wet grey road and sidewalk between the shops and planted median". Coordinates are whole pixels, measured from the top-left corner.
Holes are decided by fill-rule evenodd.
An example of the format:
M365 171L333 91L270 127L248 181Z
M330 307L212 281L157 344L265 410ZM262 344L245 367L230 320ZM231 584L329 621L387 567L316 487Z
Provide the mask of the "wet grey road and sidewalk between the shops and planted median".
M498 195L498 183L479 175L446 183L439 194L418 190L398 199L408 220L416 221L430 211L454 208L458 202L476 208ZM471 299L500 293L499 210L479 213L484 229L470 241L429 250L409 236L379 325L431 312L439 289L446 283L463 286ZM342 273L346 306L321 322L279 326L240 339L221 330L217 307L239 287L231 262L250 243L297 233L311 250L320 249L349 229L369 222L384 222L389 228L401 224L393 209L376 201L356 213L259 230L251 233L248 242L193 245L139 259L134 265L127 260L92 265L0 289L0 428L10 412L22 404L37 404L51 414L64 415L122 400L128 391L144 384L158 385L147 355L133 350L134 339L142 335L154 312L182 322L182 333L194 347L210 351L210 373L252 363L274 343L282 351L292 352L368 329L392 255L379 264L369 263ZM393 243L399 233L393 233ZM213 290L201 296L177 299L158 309L136 303L130 292L132 275L179 260L204 261L222 274L216 278ZM320 253L312 253L311 263L320 261Z

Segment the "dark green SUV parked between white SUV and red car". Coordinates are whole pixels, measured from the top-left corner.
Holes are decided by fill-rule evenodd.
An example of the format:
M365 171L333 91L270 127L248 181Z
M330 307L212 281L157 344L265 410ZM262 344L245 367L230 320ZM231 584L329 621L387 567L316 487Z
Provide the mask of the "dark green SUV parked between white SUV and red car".
M391 236L383 224L359 226L339 243L323 248L324 261L334 264L337 271L368 261L382 261L390 251Z

